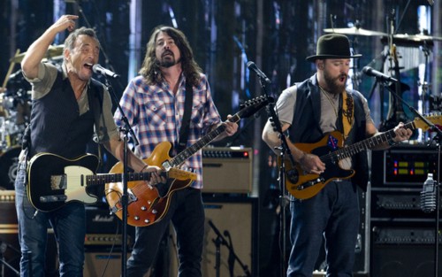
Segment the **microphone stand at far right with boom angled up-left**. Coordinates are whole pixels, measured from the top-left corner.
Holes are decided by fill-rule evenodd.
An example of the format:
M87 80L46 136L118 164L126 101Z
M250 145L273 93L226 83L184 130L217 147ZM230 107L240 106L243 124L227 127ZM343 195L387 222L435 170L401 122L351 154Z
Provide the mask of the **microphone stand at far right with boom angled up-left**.
M435 273L435 277L438 277L438 244L439 244L439 232L438 232L438 227L439 227L439 207L440 207L440 141L442 140L442 131L436 127L430 120L425 119L423 117L422 114L420 114L419 112L417 112L415 110L414 107L412 107L410 104L408 104L407 102L404 101L404 99L402 99L402 97L398 96L398 94L396 93L396 91L394 91L394 89L389 88L386 85L386 82L383 81L383 84L385 86L385 88L387 88L390 93L392 93L392 96L396 97L397 100L400 100L400 102L402 104L405 104L408 106L408 109L413 112L419 119L422 119L423 122L428 125L430 127L430 130L435 132L436 135L431 139L431 142L429 142L427 144L427 146L430 146L432 142L436 142L437 146L438 146L438 178L437 178L437 183L436 183L436 227L434 230L434 245L435 245L435 250L434 250L434 273Z

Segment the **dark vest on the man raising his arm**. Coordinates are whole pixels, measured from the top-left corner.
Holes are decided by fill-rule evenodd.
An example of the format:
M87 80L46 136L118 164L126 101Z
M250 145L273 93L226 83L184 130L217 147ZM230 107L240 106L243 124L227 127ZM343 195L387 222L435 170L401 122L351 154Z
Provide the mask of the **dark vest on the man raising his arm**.
M88 104L88 112L80 115L71 83L59 70L50 93L33 100L29 157L40 152L64 158L84 155L94 133L95 117L102 112L103 85L98 81L88 85Z

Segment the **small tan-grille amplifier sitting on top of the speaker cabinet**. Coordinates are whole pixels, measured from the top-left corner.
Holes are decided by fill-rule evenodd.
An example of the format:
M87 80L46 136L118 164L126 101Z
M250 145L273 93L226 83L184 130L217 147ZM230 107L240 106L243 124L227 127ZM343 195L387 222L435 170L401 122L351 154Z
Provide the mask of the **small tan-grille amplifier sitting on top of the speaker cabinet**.
M202 149L204 193L240 193L252 191L251 148Z

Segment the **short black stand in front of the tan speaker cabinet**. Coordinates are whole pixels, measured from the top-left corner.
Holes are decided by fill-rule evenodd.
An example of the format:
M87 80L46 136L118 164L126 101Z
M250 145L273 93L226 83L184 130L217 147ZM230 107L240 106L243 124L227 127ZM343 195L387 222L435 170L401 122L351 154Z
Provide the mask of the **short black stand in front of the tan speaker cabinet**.
M215 243L216 246L216 258L215 258L215 269L217 271L217 277L219 277L219 273L220 273L220 265L221 265L221 251L220 251L220 246L221 245L225 245L227 247L227 249L229 250L229 272L230 272L230 276L233 277L233 265L234 265L234 261L237 260L238 263L240 264L242 270L244 271L244 273L246 273L247 277L251 277L252 274L248 271L248 265L244 265L240 258L238 258L238 256L236 255L235 251L233 250L232 247L232 242L229 243L225 240L224 235L222 235L219 230L217 229L217 227L213 224L212 220L209 220L209 225L210 227L213 229L213 231L215 232L215 234L217 234L217 238L216 239L212 239L212 242ZM225 231L227 232L227 231ZM228 234L228 233L227 233ZM229 235L230 238L230 235Z

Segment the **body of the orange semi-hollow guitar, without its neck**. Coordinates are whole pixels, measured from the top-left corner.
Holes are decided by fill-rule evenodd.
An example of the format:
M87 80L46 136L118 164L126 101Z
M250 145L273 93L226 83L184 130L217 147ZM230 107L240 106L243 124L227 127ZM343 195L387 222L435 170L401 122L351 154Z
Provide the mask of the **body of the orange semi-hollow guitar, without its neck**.
M162 168L164 161L171 158L171 149L171 142L161 142L156 145L152 155L144 159L144 162ZM123 173L123 170L123 164L118 162L110 169L110 172ZM147 181L128 181L127 189L131 191L133 198L131 200L131 196L129 196L129 204L127 204L127 224L145 227L163 219L169 209L171 194L178 189L187 188L196 180L195 173L175 177L177 178L169 178L166 184L156 186L150 186ZM112 212L122 219L120 197L123 194L123 183L108 183L105 192Z

